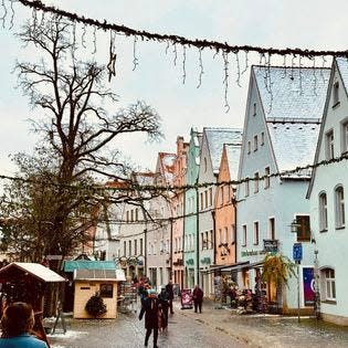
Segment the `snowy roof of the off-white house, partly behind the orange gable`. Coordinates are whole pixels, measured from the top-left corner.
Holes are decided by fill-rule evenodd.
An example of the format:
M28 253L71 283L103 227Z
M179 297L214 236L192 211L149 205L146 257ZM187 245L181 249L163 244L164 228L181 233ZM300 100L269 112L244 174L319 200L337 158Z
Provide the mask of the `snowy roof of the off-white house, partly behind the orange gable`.
M242 130L239 128L204 127L213 172L219 172L223 144L241 144Z

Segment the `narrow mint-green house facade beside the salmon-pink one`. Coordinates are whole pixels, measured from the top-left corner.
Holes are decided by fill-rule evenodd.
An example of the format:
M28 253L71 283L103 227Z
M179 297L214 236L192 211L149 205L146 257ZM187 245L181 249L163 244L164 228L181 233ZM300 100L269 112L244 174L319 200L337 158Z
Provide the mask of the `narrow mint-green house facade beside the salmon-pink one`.
M191 128L186 171L186 183L188 186L194 186L198 182L201 140L202 134L196 128ZM190 188L184 192L183 221L184 286L188 288L193 288L198 284L198 189Z

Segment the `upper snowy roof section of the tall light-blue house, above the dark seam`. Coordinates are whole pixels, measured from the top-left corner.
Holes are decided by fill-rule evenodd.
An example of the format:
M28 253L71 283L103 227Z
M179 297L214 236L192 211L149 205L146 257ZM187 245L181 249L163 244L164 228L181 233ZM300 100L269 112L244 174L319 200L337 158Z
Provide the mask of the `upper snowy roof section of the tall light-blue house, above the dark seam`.
M266 119L321 118L329 68L253 66L253 72Z

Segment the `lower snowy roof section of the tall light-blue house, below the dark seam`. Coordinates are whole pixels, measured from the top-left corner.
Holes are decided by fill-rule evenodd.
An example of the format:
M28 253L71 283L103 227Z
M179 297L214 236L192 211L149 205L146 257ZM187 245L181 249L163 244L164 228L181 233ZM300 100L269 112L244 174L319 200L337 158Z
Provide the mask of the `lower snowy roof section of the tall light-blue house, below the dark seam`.
M320 130L319 123L267 123L267 125L274 155L281 171L313 164ZM310 170L295 175L295 177L298 176L308 177Z

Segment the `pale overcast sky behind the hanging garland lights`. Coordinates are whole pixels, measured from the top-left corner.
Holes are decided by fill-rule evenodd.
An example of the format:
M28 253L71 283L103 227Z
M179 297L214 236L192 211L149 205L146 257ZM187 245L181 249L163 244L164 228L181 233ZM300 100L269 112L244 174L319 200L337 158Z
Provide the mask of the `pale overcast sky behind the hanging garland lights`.
M7 2L7 1L6 1ZM249 44L273 48L347 50L348 1L324 0L55 0L43 2L66 11L103 21L158 33L172 33L189 39L207 39L230 44ZM9 10L9 9L8 9ZM28 98L15 89L17 77L11 73L15 60L30 61L31 54L21 49L14 32L24 19L31 15L21 4L14 4L14 27L0 28L1 42L1 93L0 93L0 175L13 173L9 155L18 151L31 152L35 143L30 131L29 118L35 117L28 106ZM3 10L0 7L0 13ZM1 14L0 14L1 15ZM93 31L87 30L91 43ZM84 50L92 57L92 48ZM127 137L115 144L134 162L155 169L158 151L175 151L178 135L189 139L192 125L202 128L242 127L246 102L250 70L243 74L239 87L235 56L230 56L230 112L225 113L223 88L223 61L213 59L211 51L202 54L204 74L202 85L197 88L200 75L197 50L187 51L186 83L182 83L182 48L175 52L170 46L166 54L165 43L138 42L134 70L133 38L116 38L117 76L110 87L119 95L115 109L137 99L150 104L162 118L166 138L152 145L144 144L144 137ZM245 57L240 54L243 67ZM108 61L108 35L97 34L97 55L101 63ZM254 60L252 63L259 63Z

